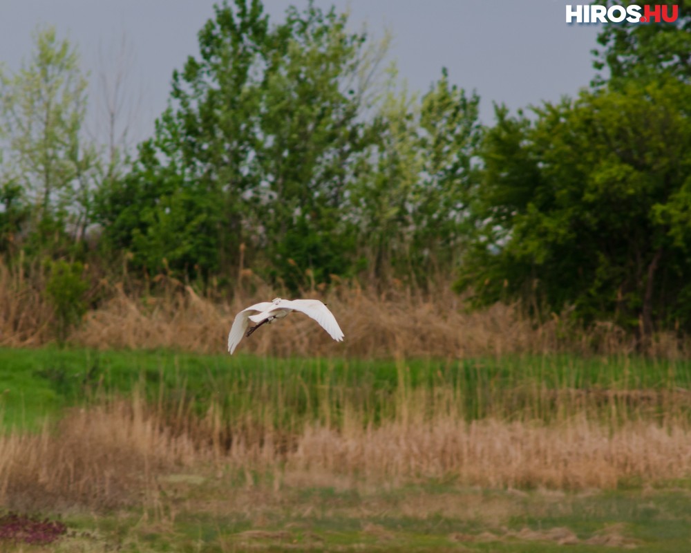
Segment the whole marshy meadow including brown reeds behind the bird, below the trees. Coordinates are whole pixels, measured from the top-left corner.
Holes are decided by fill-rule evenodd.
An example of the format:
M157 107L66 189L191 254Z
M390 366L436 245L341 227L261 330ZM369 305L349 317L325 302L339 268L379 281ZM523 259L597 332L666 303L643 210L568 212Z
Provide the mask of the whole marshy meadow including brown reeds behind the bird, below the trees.
M131 284L59 348L41 283L0 265L3 552L691 545L688 341L393 281L305 291L343 343L293 316L230 356L260 279Z

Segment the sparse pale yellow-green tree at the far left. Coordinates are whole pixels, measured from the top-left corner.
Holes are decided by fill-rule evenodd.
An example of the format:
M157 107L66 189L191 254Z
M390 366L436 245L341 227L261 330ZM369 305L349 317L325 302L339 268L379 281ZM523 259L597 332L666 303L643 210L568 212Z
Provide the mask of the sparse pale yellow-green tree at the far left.
M3 180L21 186L34 230L71 223L79 234L88 224L97 156L83 140L86 84L77 51L52 27L36 32L20 71L0 72Z

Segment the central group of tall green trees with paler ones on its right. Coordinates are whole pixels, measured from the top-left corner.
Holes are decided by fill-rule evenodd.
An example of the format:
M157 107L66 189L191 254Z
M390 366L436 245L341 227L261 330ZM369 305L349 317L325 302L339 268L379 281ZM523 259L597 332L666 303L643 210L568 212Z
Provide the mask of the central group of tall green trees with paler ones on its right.
M273 25L257 0L218 6L155 137L97 197L109 249L207 277L234 273L245 244L292 291L367 258L377 277L453 266L479 98L444 71L419 106L392 79L372 100L380 48L347 24L312 4Z

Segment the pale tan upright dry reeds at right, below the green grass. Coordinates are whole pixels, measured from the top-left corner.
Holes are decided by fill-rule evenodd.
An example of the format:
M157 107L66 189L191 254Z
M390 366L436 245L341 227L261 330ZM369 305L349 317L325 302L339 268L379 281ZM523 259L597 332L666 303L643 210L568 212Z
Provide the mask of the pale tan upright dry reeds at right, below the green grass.
M542 423L439 419L338 433L310 428L288 469L370 478L453 478L482 487L612 489L691 474L691 433L629 423L616 431L585 419Z

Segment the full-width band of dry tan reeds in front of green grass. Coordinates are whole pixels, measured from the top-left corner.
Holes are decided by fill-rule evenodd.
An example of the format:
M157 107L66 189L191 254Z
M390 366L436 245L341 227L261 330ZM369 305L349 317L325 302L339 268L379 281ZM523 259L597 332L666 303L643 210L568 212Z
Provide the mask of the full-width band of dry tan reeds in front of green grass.
M138 396L75 409L38 435L0 436L0 504L12 509L112 508L153 502L165 474L271 474L285 485L346 480L404 484L428 478L482 487L612 489L691 476L688 419L622 425L565 418L555 424L424 413L413 396L395 418L363 424L345 413L339 429L307 423L290 435L231 423L211 409L173 420ZM252 431L247 429L252 427ZM219 470L220 469L220 470ZM247 482L252 482L248 477ZM219 482L220 484L220 482Z

